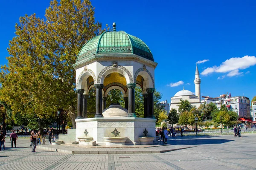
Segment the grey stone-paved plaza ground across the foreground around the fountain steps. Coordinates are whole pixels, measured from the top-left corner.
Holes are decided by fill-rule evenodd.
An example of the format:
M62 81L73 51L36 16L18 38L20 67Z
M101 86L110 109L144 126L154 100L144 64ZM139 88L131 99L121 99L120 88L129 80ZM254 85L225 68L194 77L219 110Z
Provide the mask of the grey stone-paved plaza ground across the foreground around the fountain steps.
M253 170L256 169L256 135L188 136L168 143L195 146L166 153L67 154L36 149L28 139L17 140L17 148L0 151L1 170ZM138 148L139 149L139 148Z

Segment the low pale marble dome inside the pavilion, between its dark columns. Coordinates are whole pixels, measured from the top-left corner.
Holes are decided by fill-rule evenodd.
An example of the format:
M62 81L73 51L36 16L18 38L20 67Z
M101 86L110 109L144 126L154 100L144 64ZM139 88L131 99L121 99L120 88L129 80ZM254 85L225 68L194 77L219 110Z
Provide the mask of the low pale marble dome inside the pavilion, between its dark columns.
M103 110L103 117L127 117L128 110L123 108L119 103L111 103L111 105Z

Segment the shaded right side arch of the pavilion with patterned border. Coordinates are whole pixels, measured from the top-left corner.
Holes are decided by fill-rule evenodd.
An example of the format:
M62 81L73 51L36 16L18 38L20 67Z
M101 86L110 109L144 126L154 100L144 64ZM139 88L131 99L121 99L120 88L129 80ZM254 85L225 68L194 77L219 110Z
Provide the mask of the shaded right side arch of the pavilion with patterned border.
M134 74L134 82L136 82L138 75L141 75L144 78L144 81L147 82L146 88L154 88L155 87L153 76L147 69L144 70L143 68L139 68ZM143 87L143 90L144 90L144 87Z

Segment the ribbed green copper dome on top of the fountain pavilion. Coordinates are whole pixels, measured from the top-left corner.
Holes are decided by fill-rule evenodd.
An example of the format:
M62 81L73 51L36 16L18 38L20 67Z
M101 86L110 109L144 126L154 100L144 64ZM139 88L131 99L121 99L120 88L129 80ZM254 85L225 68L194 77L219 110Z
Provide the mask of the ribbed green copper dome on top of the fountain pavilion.
M76 62L89 58L92 54L137 54L154 61L148 46L139 38L124 31L106 31L90 39L81 48Z

